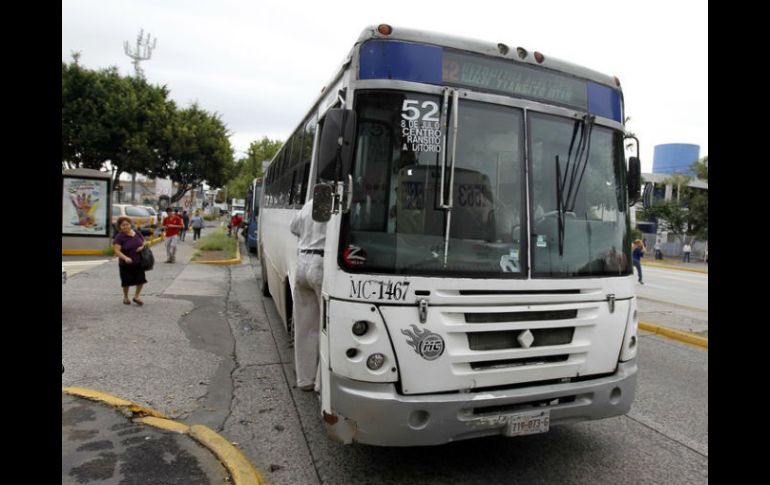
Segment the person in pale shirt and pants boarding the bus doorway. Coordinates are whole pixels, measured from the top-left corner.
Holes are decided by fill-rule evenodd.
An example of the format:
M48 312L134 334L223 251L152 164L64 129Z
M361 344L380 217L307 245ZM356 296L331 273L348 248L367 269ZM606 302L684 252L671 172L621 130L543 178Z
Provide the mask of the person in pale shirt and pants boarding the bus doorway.
M297 387L311 391L320 384L316 382L316 376L326 243L326 223L313 220L312 199L292 218L289 229L299 238L294 282L294 367L297 371Z

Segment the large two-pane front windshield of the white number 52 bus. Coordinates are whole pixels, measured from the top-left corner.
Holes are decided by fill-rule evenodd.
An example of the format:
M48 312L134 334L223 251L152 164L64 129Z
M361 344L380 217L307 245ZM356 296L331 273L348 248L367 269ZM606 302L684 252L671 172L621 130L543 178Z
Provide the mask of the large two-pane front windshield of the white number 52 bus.
M557 194L555 156L562 176L573 172L575 162L568 167L567 154L574 120L530 115L533 195L528 214L523 110L463 99L458 103L457 133L448 123L444 134L439 123L442 103L442 97L423 93L357 93L352 200L340 239L343 267L522 278L528 275L526 255L532 251L534 276L630 271L623 245L619 132L594 127L590 150L581 159L587 165L582 179L562 184L561 195L566 197L571 189L574 204L561 211L560 249L556 201L564 197ZM447 154L445 204L450 201L449 160L454 154L449 210L439 208L442 151Z

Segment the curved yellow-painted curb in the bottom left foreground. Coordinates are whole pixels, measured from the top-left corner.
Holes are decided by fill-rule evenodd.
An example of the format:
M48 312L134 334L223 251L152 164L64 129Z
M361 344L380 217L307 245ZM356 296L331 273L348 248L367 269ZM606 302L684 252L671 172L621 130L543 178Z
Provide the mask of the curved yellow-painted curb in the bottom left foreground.
M236 485L265 484L262 475L254 468L249 459L238 448L207 426L201 424L188 426L169 419L154 409L145 408L111 394L84 387L63 387L62 392L112 406L133 421L166 431L186 434L206 447L222 462Z

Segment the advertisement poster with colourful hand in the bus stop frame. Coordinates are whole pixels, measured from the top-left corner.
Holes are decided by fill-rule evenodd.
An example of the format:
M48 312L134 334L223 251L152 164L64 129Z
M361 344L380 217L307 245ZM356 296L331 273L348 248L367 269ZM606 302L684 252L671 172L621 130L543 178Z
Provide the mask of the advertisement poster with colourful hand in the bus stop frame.
M62 234L107 236L108 180L63 177L63 184Z

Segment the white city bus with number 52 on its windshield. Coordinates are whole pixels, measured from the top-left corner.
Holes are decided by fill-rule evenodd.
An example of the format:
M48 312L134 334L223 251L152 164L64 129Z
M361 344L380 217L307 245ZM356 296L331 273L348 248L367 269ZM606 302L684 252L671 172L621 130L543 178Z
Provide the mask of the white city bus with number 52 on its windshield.
M297 240L328 221L321 415L433 445L628 412L637 310L617 78L502 43L366 28L271 161L263 293L291 331ZM638 143L637 143L638 155Z

